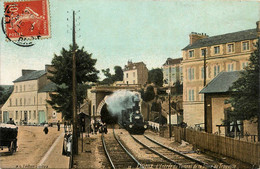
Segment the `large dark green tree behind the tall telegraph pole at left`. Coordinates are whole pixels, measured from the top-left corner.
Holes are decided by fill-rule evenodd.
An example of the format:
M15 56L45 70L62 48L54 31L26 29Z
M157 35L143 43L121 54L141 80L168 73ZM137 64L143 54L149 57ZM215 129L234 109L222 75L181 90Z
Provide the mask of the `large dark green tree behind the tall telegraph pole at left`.
M52 65L54 70L50 70L48 76L57 86L55 93L50 94L51 100L47 102L57 112L62 112L65 119L72 118L72 45L69 50L62 48L60 55L54 54ZM79 49L76 46L76 79L77 79L77 105L83 103L86 94L86 82L96 82L98 71L94 67L96 59L92 59L92 54Z

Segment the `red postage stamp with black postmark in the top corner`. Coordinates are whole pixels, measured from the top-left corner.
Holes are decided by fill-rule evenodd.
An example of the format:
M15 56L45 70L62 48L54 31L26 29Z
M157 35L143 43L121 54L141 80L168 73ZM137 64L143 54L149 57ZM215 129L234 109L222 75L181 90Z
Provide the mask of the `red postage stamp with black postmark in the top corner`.
M48 0L5 2L5 33L12 41L50 37Z

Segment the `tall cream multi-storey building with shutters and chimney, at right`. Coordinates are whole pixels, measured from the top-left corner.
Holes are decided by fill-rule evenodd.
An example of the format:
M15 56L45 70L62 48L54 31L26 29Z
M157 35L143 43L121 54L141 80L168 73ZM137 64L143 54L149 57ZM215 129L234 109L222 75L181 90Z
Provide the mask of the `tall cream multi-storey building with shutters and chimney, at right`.
M204 124L204 56L206 57L206 83L220 72L243 70L255 49L257 28L209 37L191 33L190 43L182 50L183 56L183 109L188 126Z

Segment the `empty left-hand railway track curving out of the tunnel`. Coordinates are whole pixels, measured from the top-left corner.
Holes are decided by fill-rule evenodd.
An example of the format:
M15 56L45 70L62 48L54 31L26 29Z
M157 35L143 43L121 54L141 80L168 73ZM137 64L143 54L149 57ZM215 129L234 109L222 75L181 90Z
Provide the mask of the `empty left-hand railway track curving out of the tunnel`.
M143 168L143 166L134 158L134 156L123 146L115 135L108 137L102 134L102 144L105 154L112 168Z

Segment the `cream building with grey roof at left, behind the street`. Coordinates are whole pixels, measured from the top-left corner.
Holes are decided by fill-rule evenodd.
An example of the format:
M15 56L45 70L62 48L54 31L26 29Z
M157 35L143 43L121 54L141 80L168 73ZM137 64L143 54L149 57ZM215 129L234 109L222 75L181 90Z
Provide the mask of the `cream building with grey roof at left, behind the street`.
M2 107L2 122L12 118L16 124L38 125L62 120L46 102L55 90L55 84L47 79L45 70L22 70L22 76L14 82L14 90Z

